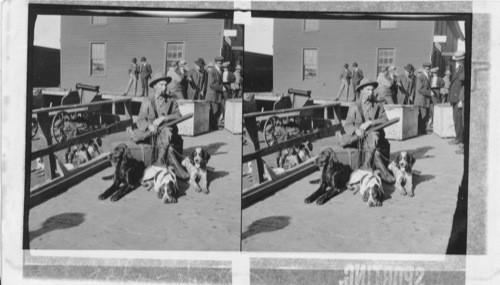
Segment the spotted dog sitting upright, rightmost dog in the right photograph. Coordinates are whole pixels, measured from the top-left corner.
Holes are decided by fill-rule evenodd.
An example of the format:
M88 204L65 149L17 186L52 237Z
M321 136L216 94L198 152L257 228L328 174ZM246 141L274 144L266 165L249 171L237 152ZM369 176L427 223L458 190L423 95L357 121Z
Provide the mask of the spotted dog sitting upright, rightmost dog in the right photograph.
M389 170L396 177L394 186L399 190L401 195L413 197L413 164L415 158L406 151L402 151L394 161L389 164ZM406 189L406 190L405 190Z

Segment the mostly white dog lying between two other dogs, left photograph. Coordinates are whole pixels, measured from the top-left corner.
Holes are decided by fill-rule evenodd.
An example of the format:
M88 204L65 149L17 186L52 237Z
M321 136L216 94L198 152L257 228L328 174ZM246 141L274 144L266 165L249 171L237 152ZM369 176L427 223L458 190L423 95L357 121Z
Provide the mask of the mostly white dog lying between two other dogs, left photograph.
M148 187L149 181L153 181L156 196L162 199L163 203L177 203L179 186L177 185L177 178L172 166L167 168L159 166L148 167L142 178L142 186Z

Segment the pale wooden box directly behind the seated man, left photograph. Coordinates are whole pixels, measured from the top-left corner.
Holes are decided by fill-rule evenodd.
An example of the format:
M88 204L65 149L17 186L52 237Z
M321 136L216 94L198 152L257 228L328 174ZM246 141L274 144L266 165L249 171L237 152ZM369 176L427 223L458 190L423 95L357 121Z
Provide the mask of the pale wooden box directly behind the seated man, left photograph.
M177 100L182 115L193 113L193 117L177 125L179 135L196 136L209 131L210 102L205 100Z

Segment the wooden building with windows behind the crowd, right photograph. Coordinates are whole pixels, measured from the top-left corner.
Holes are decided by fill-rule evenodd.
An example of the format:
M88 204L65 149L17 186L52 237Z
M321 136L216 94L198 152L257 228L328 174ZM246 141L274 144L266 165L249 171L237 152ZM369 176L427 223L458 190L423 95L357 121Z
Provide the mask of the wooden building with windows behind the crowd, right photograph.
M458 39L464 36L457 22L275 19L273 89L311 90L314 98L333 99L345 63L351 68L357 62L372 79L391 64L398 72L431 60L444 68Z

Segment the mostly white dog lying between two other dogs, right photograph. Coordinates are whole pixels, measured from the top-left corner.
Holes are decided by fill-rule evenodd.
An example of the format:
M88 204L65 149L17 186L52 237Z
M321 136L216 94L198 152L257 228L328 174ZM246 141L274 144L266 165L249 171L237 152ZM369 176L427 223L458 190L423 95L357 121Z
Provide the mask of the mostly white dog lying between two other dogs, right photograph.
M348 189L361 193L363 202L366 202L368 207L382 206L382 201L385 197L384 188L382 187L382 179L380 171L357 169L351 174L349 179Z

